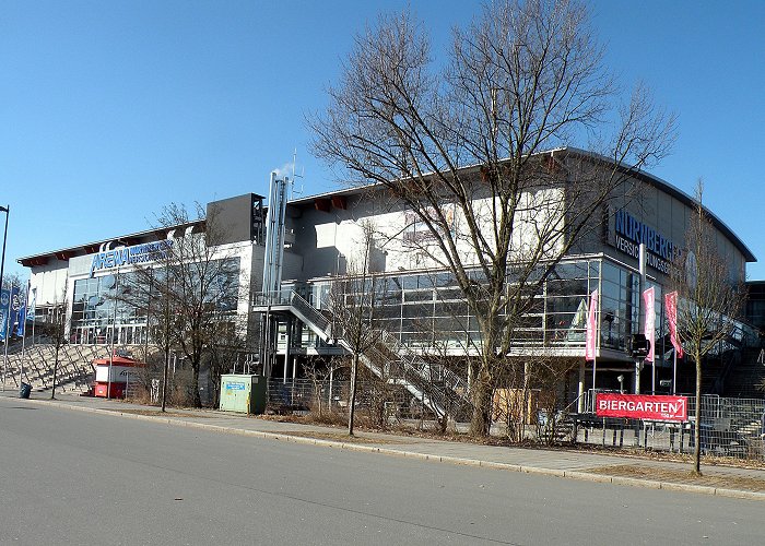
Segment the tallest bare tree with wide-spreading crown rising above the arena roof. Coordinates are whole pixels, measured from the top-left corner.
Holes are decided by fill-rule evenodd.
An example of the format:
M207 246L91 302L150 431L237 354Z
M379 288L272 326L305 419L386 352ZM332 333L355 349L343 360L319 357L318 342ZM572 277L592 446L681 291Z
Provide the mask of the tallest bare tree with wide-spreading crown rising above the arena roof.
M581 3L501 0L455 29L442 63L409 13L381 16L310 121L316 154L351 183L387 187L432 234L422 250L454 274L481 334L474 435L489 434L531 296L614 189L671 144L673 117L644 87L616 98ZM544 153L588 138L608 144L578 170Z

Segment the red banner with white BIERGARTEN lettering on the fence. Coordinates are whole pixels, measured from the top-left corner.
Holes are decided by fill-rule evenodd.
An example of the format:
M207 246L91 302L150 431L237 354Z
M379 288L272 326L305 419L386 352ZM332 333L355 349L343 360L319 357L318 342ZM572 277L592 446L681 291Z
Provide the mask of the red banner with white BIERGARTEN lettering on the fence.
M598 393L596 414L598 417L686 422L688 404L686 396Z

